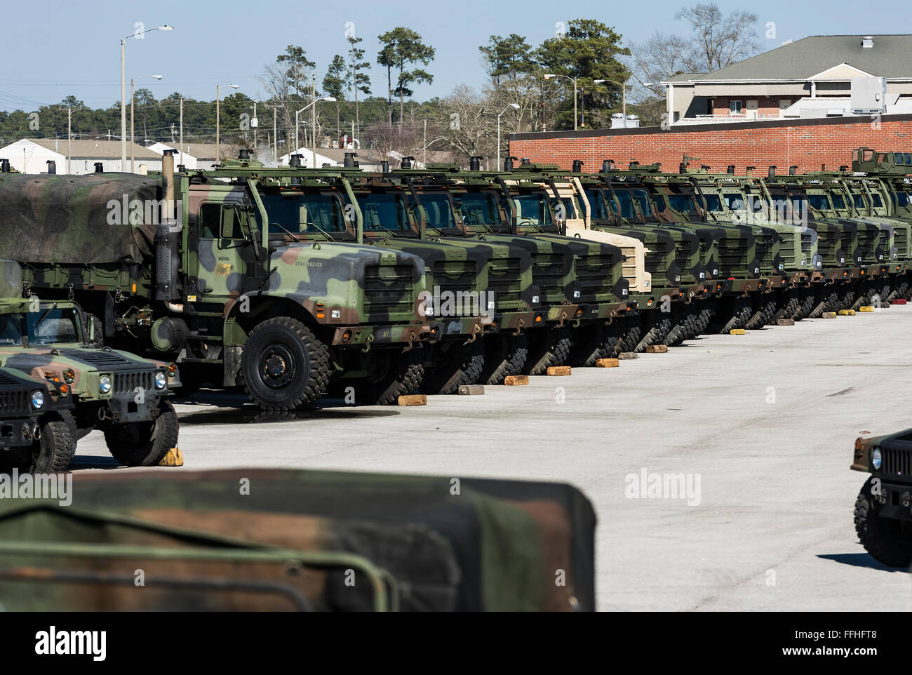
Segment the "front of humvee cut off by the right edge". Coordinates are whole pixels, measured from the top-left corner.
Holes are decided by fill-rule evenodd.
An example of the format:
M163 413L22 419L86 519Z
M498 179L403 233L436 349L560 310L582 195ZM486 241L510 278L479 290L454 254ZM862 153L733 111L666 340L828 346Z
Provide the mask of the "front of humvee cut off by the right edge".
M855 532L876 561L912 565L912 429L855 440L853 471L870 473L855 501Z

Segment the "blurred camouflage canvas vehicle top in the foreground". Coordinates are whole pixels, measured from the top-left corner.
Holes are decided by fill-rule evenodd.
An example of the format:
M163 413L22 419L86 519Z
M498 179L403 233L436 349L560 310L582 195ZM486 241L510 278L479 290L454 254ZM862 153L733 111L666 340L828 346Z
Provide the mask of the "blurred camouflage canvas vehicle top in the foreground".
M83 474L71 506L29 505L0 500L0 603L8 609L295 608L281 594L238 588L201 599L180 585L164 589L155 582L162 578L290 584L317 609L377 608L378 597L404 610L595 608L595 514L560 483L262 469ZM140 550L125 560L67 555L67 546L90 542ZM47 543L57 547L21 548ZM173 546L220 557L152 555ZM305 562L289 576L291 554L249 560L251 550L336 556L338 564ZM24 568L46 580L8 578ZM131 583L137 568L144 593ZM48 570L118 573L121 583L57 585ZM39 592L48 584L53 592Z

